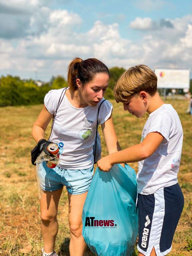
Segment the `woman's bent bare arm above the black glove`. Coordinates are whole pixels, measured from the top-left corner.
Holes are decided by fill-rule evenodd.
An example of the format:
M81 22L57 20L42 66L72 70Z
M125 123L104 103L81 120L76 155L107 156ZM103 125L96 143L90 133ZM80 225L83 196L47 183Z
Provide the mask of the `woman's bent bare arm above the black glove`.
M37 120L33 125L32 130L33 138L36 140L37 143L39 140L44 138L45 130L52 118L53 114L50 114L44 105Z

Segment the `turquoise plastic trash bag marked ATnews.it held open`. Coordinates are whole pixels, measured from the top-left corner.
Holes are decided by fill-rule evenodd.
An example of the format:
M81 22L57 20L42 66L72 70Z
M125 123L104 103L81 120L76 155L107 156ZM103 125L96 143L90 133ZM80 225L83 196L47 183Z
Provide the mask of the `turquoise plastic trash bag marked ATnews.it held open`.
M83 208L83 237L99 256L129 256L138 235L134 169L114 165L95 172Z

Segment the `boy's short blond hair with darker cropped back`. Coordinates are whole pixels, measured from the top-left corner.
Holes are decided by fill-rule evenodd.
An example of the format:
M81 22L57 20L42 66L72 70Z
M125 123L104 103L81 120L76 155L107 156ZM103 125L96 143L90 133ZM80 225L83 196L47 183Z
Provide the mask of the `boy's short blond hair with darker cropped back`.
M118 79L113 93L117 102L125 102L129 96L141 91L153 96L157 91L157 76L145 65L137 65L126 70Z

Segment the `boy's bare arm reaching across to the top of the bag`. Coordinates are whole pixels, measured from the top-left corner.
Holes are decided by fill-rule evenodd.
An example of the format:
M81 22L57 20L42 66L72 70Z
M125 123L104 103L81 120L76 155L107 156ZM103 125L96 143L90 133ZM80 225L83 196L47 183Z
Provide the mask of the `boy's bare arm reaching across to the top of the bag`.
M114 164L142 161L156 151L163 139L164 137L159 132L148 133L140 144L103 157L97 165L101 171L108 172Z

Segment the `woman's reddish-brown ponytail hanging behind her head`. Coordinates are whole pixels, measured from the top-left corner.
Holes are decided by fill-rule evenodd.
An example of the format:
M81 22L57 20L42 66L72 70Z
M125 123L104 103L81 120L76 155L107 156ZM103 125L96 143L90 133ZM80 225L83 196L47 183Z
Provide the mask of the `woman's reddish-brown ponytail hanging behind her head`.
M68 80L68 85L71 92L77 90L77 84L76 84L76 79L78 78L77 69L81 61L82 59L75 58L74 60L71 61L68 67L67 80Z

